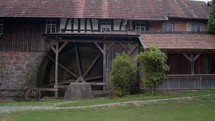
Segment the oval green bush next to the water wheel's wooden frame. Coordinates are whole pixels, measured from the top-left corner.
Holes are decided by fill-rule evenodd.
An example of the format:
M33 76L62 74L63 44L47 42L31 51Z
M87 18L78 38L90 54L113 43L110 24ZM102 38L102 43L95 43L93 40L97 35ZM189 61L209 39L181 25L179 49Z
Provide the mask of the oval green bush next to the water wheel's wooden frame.
M118 96L129 94L136 80L136 66L127 54L117 55L113 59L110 80L115 94Z

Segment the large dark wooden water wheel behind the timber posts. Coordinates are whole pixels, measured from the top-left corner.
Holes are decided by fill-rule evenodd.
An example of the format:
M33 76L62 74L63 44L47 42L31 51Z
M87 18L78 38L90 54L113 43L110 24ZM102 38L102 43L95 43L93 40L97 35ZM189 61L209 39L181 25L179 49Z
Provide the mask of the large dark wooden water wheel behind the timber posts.
M94 43L68 43L59 53L58 84L103 82L103 55L97 46ZM50 51L40 66L39 87L54 85L54 62L55 54ZM92 88L102 90L103 86L92 85Z

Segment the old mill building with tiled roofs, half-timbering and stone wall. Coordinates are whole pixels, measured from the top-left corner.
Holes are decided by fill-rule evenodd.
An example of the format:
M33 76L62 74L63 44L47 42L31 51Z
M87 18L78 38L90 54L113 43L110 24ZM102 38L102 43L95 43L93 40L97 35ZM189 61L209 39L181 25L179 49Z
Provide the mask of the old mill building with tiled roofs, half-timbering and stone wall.
M0 0L0 97L31 87L58 96L71 82L109 91L115 55L134 57L150 45L168 55L166 82L200 79L214 88L208 16L207 3L189 0Z

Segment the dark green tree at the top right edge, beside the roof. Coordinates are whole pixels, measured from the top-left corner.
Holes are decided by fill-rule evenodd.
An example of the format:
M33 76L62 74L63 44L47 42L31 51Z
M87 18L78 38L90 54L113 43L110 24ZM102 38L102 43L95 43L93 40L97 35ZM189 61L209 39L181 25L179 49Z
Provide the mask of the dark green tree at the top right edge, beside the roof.
M208 20L208 30L215 34L215 0L211 2L210 15Z

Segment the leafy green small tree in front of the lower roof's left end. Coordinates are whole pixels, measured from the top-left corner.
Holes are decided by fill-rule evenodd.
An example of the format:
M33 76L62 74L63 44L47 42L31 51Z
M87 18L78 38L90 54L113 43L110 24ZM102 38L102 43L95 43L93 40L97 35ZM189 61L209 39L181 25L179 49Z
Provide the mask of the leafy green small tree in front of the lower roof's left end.
M144 85L153 93L154 88L166 78L166 72L169 70L166 64L167 56L158 47L150 46L137 55L137 60L143 71Z

